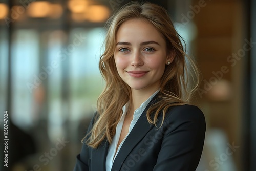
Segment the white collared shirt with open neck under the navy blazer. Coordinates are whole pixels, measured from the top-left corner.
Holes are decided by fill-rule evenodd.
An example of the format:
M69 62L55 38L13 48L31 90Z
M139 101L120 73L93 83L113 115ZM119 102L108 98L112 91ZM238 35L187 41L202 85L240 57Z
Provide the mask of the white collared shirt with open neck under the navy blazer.
M137 108L134 111L133 114L133 120L130 124L129 127L129 132L127 133L127 135L124 137L124 139L122 140L122 142L120 143L117 152L116 152L116 147L117 147L117 143L119 141L120 138L120 134L122 131L122 127L123 127L123 122L124 122L124 118L125 115L127 113L127 107L129 105L129 103L126 103L122 110L123 110L123 114L120 118L120 121L118 122L117 126L116 126L116 135L113 137L112 143L109 146L109 151L108 151L108 155L106 156L106 171L111 171L112 165L114 163L114 160L123 144L123 142L125 141L126 137L130 134L130 132L132 131L134 125L136 124L136 122L138 121L139 117L141 116L141 114L143 113L143 111L145 110L146 106L148 103L150 103L150 101L153 99L153 97L160 91L160 89L158 89L154 94L152 94L146 101L144 101L139 108ZM115 156L114 156L115 155Z

